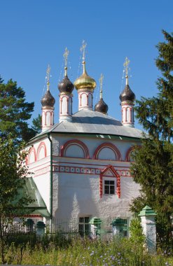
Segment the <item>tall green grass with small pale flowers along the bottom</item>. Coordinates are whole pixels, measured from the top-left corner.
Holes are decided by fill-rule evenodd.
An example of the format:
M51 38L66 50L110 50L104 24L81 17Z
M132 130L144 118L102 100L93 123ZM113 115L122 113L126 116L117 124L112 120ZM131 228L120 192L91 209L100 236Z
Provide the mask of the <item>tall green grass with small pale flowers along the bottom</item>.
M38 242L34 246L12 243L6 250L6 262L13 265L162 266L173 265L173 257L164 253L150 255L139 243L125 238L76 239L61 247L55 242Z

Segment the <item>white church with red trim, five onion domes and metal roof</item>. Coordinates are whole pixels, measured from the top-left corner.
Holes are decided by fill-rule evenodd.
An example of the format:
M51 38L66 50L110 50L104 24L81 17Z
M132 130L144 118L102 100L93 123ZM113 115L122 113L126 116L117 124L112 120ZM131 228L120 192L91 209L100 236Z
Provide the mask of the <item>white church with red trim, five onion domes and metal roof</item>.
M85 50L85 49L84 49ZM130 174L131 153L141 144L142 132L134 127L135 94L130 89L125 61L125 88L120 94L122 121L107 115L100 79L99 102L93 108L94 78L87 73L83 52L83 73L74 83L67 74L60 91L60 122L54 124L55 98L47 90L41 99L42 132L29 141L26 164L32 177L28 191L35 200L34 221L55 225L58 219L87 230L93 217L109 224L115 218L129 223L129 205L139 195L139 185ZM73 90L78 92L78 111L72 113ZM119 99L118 99L119 100Z

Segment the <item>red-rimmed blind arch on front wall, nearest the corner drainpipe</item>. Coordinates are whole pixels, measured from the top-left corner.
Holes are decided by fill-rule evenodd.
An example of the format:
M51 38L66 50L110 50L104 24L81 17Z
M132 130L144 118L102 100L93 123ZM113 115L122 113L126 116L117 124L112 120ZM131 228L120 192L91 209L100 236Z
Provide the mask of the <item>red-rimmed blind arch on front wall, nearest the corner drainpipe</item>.
M77 139L67 141L61 148L62 157L89 158L87 146Z

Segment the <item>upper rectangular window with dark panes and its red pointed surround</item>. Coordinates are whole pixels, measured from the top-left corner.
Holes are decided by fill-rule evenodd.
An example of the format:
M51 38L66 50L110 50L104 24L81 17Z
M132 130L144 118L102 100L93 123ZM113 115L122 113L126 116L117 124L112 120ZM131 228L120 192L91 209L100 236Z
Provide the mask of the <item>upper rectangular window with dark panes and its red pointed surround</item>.
M120 176L112 165L108 165L99 176L99 197L117 195L120 198Z

